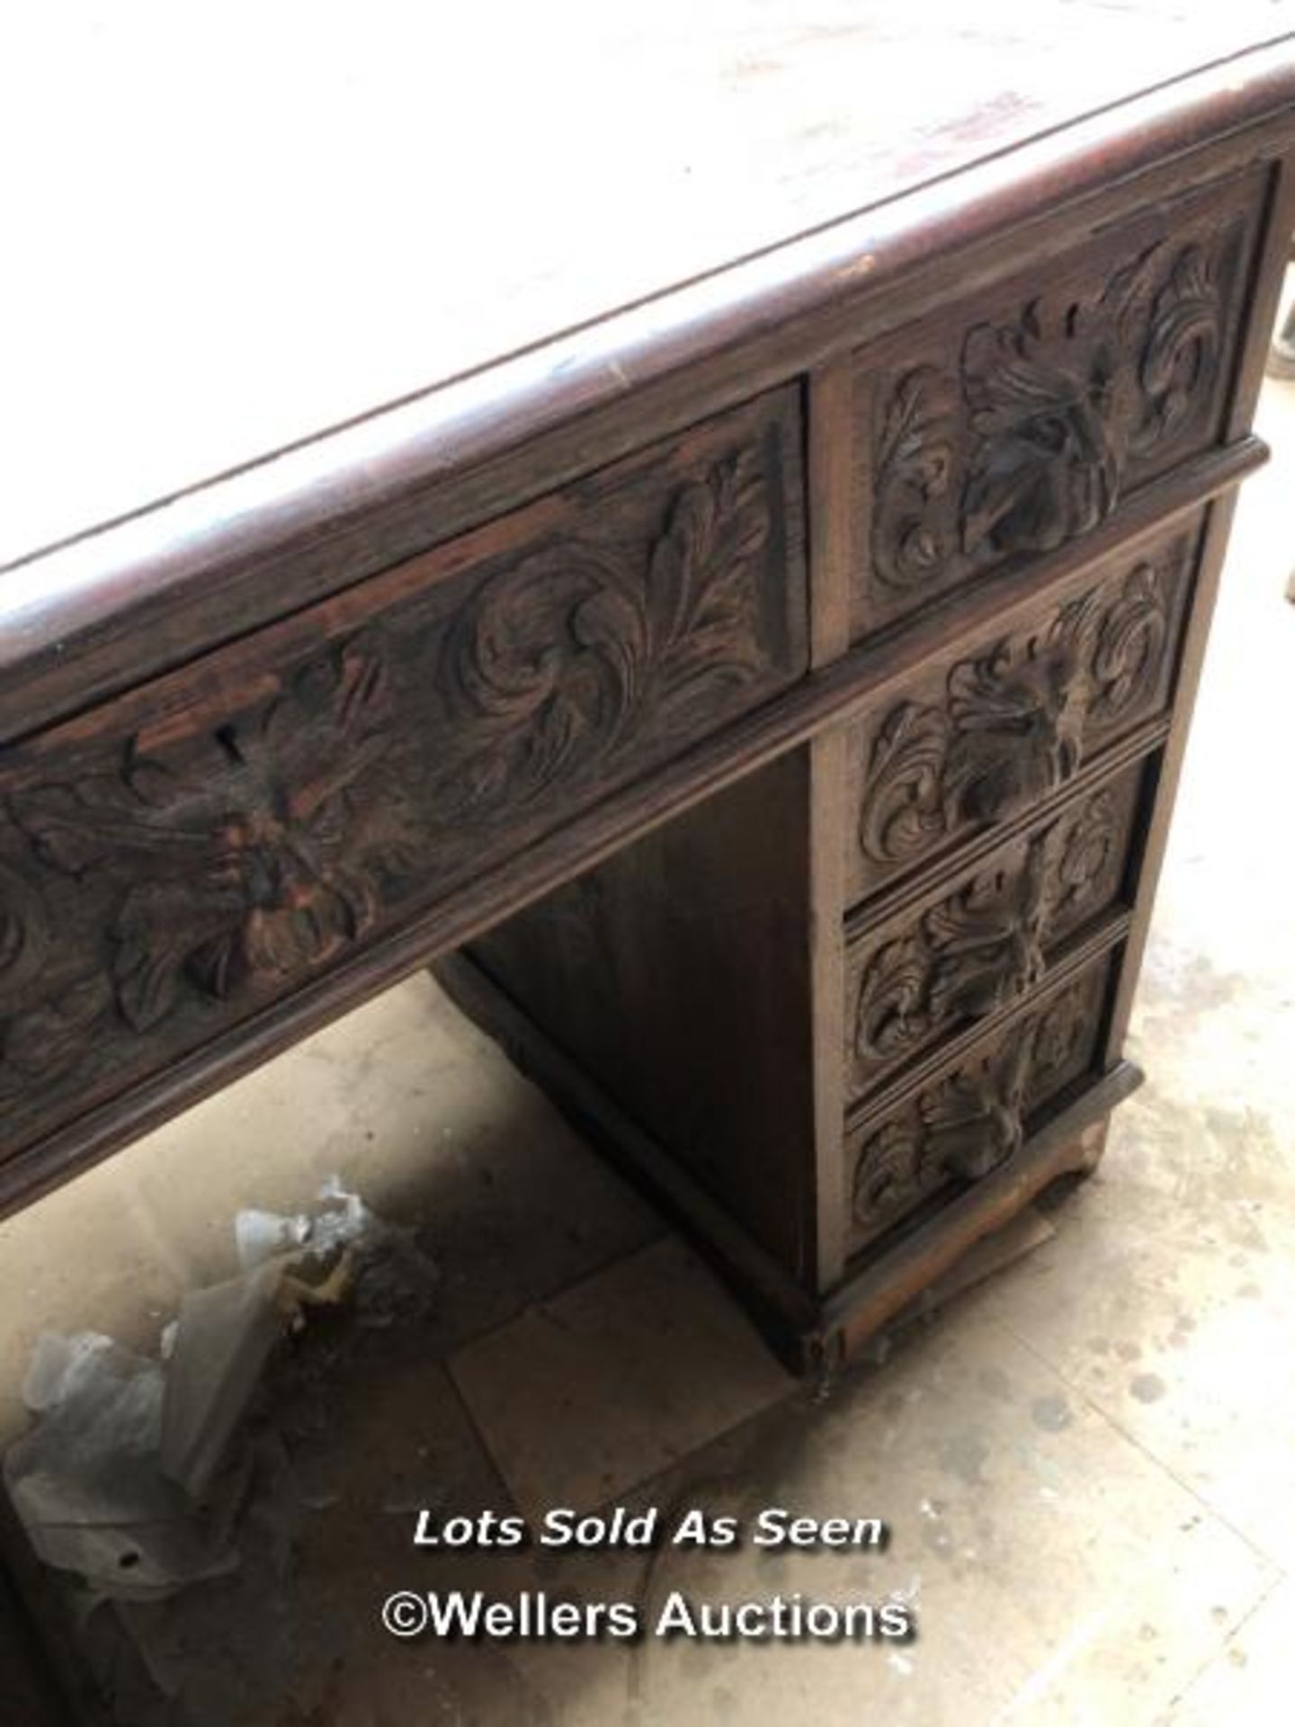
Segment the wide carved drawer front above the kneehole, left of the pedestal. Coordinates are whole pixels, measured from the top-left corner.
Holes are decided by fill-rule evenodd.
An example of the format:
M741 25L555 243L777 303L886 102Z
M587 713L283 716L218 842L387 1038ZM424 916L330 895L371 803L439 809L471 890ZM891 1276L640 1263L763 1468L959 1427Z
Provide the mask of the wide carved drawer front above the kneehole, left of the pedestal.
M0 763L3 1152L805 668L794 389Z

